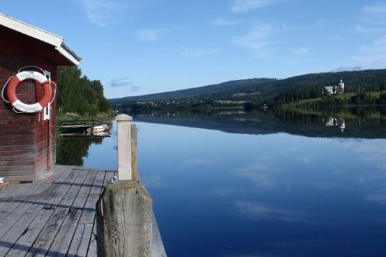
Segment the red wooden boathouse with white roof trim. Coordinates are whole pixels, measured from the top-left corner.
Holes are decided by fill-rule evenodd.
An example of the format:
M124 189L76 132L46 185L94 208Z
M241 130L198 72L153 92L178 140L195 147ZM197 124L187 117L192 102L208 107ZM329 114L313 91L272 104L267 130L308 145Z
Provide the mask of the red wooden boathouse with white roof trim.
M0 99L0 178L34 180L55 163L54 84L50 83L49 107L32 113L15 112L3 87L21 68L44 73L56 84L57 66L80 63L80 57L63 41L60 36L0 13L0 88L4 89ZM27 105L37 103L45 93L40 82L32 79L21 81L16 89L17 98Z

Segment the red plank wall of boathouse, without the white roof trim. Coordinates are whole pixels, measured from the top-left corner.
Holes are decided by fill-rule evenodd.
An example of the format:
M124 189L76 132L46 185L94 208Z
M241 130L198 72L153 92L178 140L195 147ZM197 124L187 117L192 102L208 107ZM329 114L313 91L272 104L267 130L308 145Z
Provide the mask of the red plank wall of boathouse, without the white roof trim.
M47 44L1 26L0 34L1 89L24 66L50 71L52 81L57 82L57 64L45 54ZM16 93L20 101L30 104L39 101L44 91L38 82L25 80ZM55 109L56 101L51 106L51 120L44 121L43 112L19 114L0 99L0 177L29 181L52 168L56 149Z

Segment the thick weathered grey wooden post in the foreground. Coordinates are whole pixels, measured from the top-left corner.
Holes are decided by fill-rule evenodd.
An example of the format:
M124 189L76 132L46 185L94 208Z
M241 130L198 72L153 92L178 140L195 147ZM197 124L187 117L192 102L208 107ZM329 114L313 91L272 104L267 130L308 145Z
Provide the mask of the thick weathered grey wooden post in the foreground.
M151 257L151 205L140 182L107 183L96 203L98 257Z

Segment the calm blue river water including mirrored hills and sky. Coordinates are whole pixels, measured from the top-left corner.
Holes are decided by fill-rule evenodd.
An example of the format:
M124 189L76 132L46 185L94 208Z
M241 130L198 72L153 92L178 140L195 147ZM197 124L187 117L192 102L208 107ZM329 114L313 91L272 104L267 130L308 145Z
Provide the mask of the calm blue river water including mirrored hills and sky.
M386 256L383 120L288 116L134 116L168 256ZM114 129L86 145L117 169Z

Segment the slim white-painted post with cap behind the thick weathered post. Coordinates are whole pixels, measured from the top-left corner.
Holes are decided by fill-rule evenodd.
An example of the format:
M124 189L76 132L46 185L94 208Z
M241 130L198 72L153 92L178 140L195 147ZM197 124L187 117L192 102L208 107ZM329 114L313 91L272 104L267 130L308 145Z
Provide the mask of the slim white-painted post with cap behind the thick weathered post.
M131 121L128 115L118 115L117 140L118 140L118 179L133 179L131 175Z

